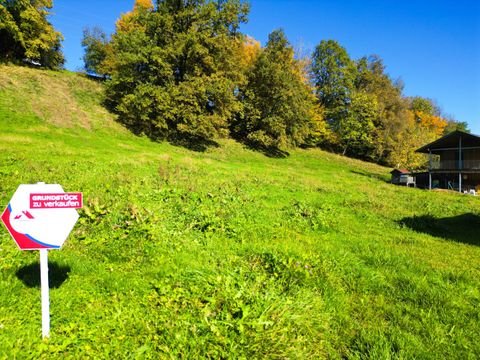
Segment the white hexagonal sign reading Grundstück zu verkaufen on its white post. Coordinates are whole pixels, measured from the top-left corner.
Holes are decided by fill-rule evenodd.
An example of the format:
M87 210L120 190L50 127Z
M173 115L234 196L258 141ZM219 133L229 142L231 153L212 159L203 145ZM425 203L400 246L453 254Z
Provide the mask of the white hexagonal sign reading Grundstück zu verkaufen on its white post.
M1 216L20 250L40 250L43 338L50 336L48 250L62 247L82 206L82 193L66 193L58 184L23 184Z

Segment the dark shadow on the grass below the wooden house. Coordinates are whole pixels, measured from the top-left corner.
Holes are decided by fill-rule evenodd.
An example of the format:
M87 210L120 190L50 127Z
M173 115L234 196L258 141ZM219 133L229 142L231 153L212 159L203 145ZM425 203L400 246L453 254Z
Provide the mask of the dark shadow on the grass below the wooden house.
M420 233L464 244L480 246L480 216L463 215L435 218L431 215L413 216L399 221L401 225Z

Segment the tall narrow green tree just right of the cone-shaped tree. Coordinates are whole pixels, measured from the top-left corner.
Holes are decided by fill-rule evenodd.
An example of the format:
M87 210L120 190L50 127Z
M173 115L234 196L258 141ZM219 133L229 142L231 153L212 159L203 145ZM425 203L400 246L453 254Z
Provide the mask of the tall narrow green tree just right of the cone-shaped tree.
M318 100L325 108L331 129L338 133L347 116L354 90L356 68L345 48L334 40L322 40L312 56L312 77Z

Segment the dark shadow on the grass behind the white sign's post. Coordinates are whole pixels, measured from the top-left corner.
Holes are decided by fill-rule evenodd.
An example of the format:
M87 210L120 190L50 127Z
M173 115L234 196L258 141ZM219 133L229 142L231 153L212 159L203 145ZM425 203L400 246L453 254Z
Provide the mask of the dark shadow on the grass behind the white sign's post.
M59 288L67 279L70 273L70 266L58 265L55 262L48 263L48 282L50 289ZM35 262L22 266L15 273L17 278L30 288L40 287L40 263Z

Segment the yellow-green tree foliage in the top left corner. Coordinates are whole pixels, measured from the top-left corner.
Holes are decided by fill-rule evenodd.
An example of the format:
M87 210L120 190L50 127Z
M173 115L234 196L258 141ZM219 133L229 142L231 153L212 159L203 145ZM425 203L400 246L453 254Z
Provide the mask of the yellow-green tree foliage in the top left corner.
M63 66L63 37L47 20L52 6L52 0L0 0L0 59Z

